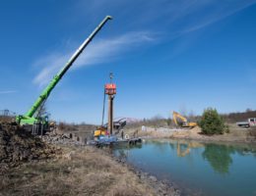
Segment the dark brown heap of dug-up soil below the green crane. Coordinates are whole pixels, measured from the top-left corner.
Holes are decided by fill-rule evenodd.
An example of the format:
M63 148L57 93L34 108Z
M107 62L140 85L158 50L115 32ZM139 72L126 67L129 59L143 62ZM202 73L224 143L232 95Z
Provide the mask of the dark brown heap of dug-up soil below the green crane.
M56 148L18 125L0 124L0 173L25 161L53 157L55 152Z

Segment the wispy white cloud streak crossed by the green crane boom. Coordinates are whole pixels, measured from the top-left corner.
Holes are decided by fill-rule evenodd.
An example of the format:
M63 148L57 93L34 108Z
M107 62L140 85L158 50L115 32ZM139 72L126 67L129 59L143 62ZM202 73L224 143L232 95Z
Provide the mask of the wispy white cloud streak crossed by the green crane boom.
M155 40L154 34L147 31L130 32L109 39L98 39L89 45L88 50L85 49L72 69L111 62L116 60L121 53ZM33 66L42 68L42 70L34 77L33 83L39 86L48 83L50 78L65 65L74 52L70 52L70 49L67 51L61 54L52 52L34 62Z

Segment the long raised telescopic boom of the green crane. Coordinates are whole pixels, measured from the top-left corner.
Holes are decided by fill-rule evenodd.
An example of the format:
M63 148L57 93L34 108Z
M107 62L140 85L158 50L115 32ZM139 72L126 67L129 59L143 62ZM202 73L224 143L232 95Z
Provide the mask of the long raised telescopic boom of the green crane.
M101 29L101 27L112 18L110 16L106 16L99 25L96 26L95 30L90 34L90 36L82 43L82 45L76 50L76 52L73 54L73 56L69 59L69 61L66 63L64 68L60 70L59 73L57 73L50 83L45 87L45 89L42 91L42 93L39 95L39 97L36 99L34 104L32 105L32 108L26 113L24 116L19 116L19 123L25 124L25 123L33 123L34 118L32 116L36 112L36 110L41 106L43 102L47 99L52 89L56 86L56 84L59 82L59 80L62 78L62 76L70 69L70 67L73 65L73 63L76 61L76 59L79 57L79 55L83 52L83 50L88 46L88 44L93 40L93 38L96 36L96 33Z

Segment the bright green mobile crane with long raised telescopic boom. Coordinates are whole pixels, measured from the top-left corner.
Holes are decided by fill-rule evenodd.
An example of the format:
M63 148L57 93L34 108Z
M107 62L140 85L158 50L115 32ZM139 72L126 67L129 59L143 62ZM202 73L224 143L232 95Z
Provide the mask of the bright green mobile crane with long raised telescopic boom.
M70 69L70 67L73 65L73 63L76 61L76 59L79 57L79 55L83 52L83 50L87 47L87 45L93 40L96 33L101 29L101 27L112 18L110 16L106 16L103 21L96 26L96 29L90 34L90 36L82 43L82 45L77 49L77 51L73 54L73 56L69 59L67 64L64 66L64 68L57 73L50 83L45 87L45 89L42 91L42 93L39 95L39 97L36 99L34 104L32 105L32 108L26 113L25 115L20 115L16 117L16 122L20 125L24 125L27 129L32 130L34 127L34 124L40 124L40 128L45 131L48 125L48 118L44 117L36 117L36 111L40 110L41 107L44 105L46 99L50 95L50 92L55 87L55 85L59 82L59 80L62 78L62 76ZM34 117L35 116L35 117ZM38 126L37 126L38 127Z

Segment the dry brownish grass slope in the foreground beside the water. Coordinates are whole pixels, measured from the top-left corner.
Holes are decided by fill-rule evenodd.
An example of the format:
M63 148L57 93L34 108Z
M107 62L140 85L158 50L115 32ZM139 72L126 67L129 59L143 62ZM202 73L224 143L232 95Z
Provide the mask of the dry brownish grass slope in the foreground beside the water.
M91 147L66 147L54 160L10 170L0 190L0 195L155 195L133 172Z

